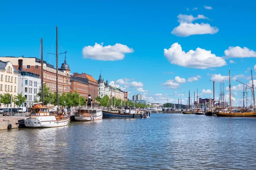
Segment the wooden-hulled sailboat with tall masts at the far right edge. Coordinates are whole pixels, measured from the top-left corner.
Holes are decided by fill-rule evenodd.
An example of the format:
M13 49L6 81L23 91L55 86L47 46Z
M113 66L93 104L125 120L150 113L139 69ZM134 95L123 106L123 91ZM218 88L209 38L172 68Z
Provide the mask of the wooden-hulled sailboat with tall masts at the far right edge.
M230 85L230 71L229 71L229 97L230 97L230 108L229 110L223 110L223 109L218 109L216 108L215 114L217 116L256 116L256 112L255 112L255 98L254 98L254 85L253 85L253 72L251 70L251 77L252 77L252 86L249 86L247 84L248 87L251 88L252 92L253 92L253 111L248 111L248 110L239 110L238 112L234 112L232 109L232 100L231 100L231 85Z

